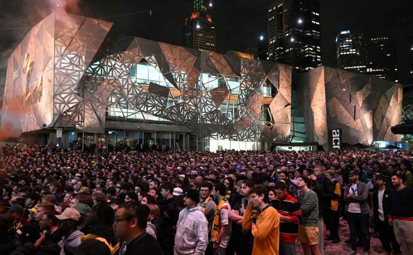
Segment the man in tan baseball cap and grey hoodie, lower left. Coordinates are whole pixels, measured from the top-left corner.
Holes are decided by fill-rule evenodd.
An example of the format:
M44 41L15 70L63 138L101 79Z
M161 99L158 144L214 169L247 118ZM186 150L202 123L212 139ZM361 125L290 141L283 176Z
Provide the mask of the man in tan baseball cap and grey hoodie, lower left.
M67 251L67 246L77 247L80 245L80 237L85 234L77 230L77 224L80 219L80 213L75 208L66 208L61 215L55 215L60 220L59 229L63 233L63 238L59 242L60 255L71 254Z

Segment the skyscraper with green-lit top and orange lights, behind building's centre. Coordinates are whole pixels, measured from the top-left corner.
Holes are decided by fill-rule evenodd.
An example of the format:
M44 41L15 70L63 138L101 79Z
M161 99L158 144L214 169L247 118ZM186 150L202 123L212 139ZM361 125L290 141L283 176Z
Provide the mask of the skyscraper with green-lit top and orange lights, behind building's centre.
M215 51L215 25L202 0L194 1L194 11L185 19L183 43L185 47Z

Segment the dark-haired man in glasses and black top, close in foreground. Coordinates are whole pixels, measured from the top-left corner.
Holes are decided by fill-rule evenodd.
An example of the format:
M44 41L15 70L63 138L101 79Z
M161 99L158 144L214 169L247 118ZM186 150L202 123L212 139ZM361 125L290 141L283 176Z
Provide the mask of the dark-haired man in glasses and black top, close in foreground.
M146 232L147 205L127 202L115 213L115 235L122 240L119 255L163 255L159 243Z

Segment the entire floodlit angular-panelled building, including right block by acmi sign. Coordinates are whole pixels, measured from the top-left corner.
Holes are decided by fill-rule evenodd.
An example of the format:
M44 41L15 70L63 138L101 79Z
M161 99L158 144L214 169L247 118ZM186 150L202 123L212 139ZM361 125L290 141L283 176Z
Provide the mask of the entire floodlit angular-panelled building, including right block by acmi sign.
M46 133L49 143L60 130L64 146L82 137L108 150L138 141L214 151L206 143L290 144L292 118L301 118L304 142L326 149L331 128L343 129L348 143L400 139L390 132L401 118L399 84L327 67L293 82L288 65L139 37L107 51L111 27L55 13L35 25L8 60L1 129ZM241 141L257 147L234 146Z

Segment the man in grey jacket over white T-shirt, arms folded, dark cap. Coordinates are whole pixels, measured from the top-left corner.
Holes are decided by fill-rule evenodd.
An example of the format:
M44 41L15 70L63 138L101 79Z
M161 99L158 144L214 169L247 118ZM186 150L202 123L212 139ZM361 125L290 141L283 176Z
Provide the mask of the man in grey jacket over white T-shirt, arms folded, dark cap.
M350 243L352 250L350 255L357 254L357 237L362 237L364 239L364 255L368 255L370 250L370 207L367 204L369 189L368 185L360 182L359 178L359 171L350 171L350 183L346 185L344 190L345 211L347 212L348 227L350 228Z

